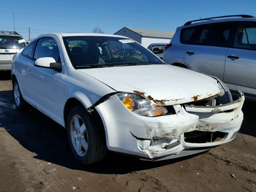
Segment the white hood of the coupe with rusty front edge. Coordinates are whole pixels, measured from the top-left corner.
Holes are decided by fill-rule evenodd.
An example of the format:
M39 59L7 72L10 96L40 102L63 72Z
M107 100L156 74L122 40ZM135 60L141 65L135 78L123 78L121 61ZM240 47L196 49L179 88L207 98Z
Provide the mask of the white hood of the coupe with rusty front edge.
M156 104L175 105L214 96L218 82L192 70L167 64L79 69L118 92L143 95Z

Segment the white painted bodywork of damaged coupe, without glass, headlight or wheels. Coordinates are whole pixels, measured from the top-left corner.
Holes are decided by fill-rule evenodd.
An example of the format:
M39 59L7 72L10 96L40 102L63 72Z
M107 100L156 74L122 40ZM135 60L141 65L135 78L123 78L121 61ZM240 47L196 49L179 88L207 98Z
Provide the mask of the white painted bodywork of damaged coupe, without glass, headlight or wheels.
M33 60L22 54L16 54L13 59L12 74L18 80L24 100L62 126L65 126L64 106L69 98L79 100L86 110L107 94L135 90L144 92L145 97L151 96L156 103L157 100L164 100L165 105L174 105L176 114L157 117L140 116L128 110L114 94L95 107L102 118L106 143L110 150L146 158L174 158L202 152L207 150L205 146L218 146L229 142L233 139L232 135L240 129L244 98L232 112L223 111L217 114L187 112L180 105L193 101L195 96L201 100L218 94L220 92L218 83L210 76L165 64L74 69L62 37L82 35L114 36L55 33L38 37L51 37L56 40L61 50L62 72L38 68L34 66ZM228 135L219 142L186 143L184 132L193 130L222 131ZM141 142L154 138L159 142L154 146L148 146L151 142ZM163 148L165 144L172 142L180 143L168 149ZM197 149L184 150L189 148Z

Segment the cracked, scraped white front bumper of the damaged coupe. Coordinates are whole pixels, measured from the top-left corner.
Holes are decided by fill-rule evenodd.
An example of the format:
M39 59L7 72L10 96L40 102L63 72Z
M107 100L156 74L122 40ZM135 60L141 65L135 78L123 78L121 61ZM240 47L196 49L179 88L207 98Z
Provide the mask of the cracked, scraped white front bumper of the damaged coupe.
M175 114L145 117L126 108L116 95L95 109L109 150L163 160L209 150L234 139L243 120L244 94L219 106L174 105Z

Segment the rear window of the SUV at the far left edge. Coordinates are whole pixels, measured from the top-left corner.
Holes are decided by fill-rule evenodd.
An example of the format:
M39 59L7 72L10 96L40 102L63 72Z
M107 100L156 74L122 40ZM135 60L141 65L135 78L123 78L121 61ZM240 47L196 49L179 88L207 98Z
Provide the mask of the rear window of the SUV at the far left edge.
M0 36L0 49L21 49L26 45L25 43L19 43L21 40L18 36Z

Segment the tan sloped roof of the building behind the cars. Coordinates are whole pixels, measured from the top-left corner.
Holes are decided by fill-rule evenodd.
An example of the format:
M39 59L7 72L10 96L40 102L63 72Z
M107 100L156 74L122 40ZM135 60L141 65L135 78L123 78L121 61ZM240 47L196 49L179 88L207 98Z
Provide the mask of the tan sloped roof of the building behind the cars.
M162 37L162 38L172 38L174 32L172 31L161 31L161 30L151 30L151 29L138 29L132 27L125 27L130 29L141 36L149 36L149 37Z

